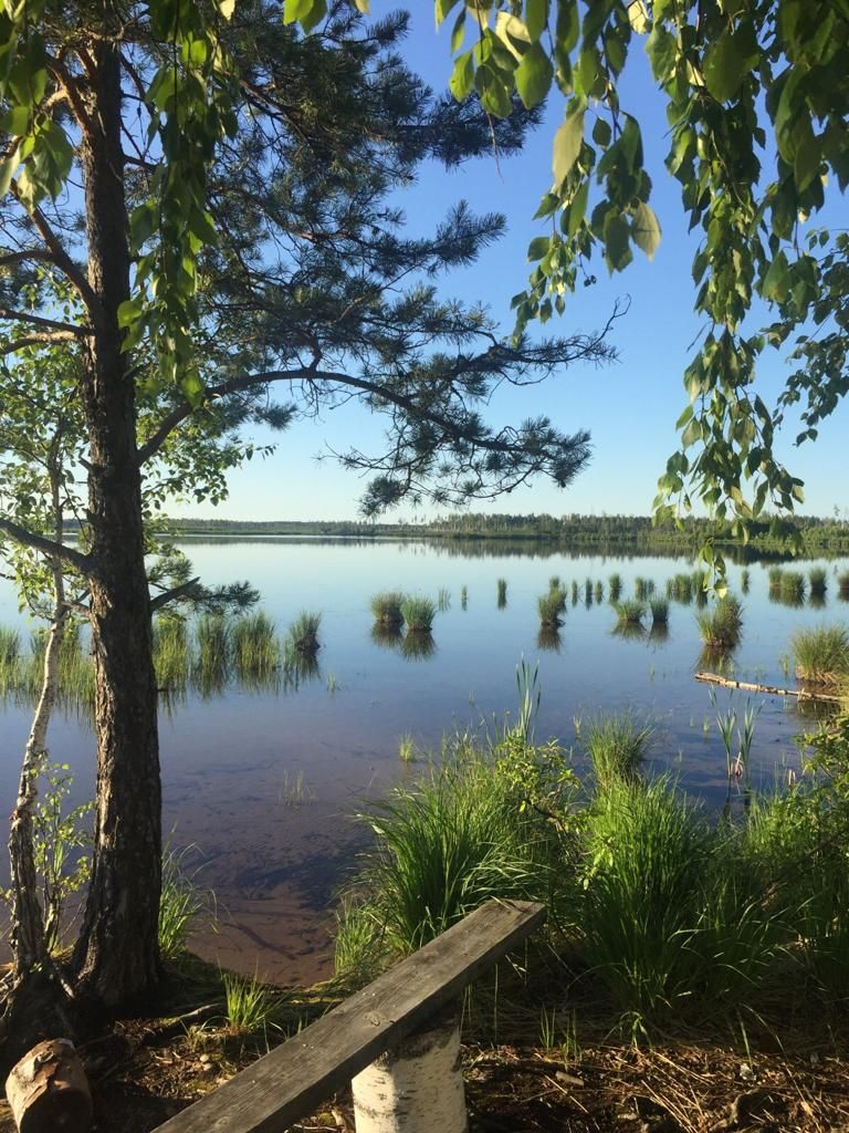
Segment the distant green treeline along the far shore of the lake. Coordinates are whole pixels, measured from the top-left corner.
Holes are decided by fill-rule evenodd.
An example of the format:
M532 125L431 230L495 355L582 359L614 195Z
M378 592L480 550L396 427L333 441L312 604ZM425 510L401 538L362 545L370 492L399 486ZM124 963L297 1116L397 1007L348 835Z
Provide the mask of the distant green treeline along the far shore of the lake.
M803 553L849 554L849 522L798 516L791 520L801 535ZM748 552L753 557L764 553L787 551L787 542L771 534L766 519L754 526ZM616 551L663 554L693 554L712 538L714 544L737 547L730 529L707 519L688 518L680 526L654 526L648 516L480 516L472 512L455 513L422 523L376 523L366 520L315 520L266 522L230 519L170 519L163 533L175 536L257 535L375 538L429 538L523 540L544 543L575 551Z

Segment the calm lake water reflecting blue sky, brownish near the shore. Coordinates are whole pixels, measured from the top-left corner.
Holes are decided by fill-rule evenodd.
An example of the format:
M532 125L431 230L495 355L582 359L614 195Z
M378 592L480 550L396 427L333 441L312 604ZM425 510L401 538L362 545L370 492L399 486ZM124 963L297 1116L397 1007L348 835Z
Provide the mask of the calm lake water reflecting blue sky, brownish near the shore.
M684 559L507 554L495 547L475 555L393 542L229 539L181 546L209 585L249 579L280 631L301 610L323 615L320 674L297 691L232 688L207 700L190 695L163 710L164 823L173 828L172 844L194 847L197 879L215 891L218 932L195 942L209 959L280 982L328 973L333 895L355 867L365 837L353 813L393 782L415 775L415 765L398 759L402 736L438 748L446 732L482 722L491 727L494 717L503 721L505 710L515 710L522 656L539 663L538 739L557 736L569 746L582 716L633 708L657 722L655 766L674 769L688 790L712 803L724 796L724 751L707 688L693 680L701 653L695 607L671 603L666 640L627 640L611 633L616 617L607 602L584 606L586 578L603 582L606 598L614 572L626 596L637 576L653 579L662 594L668 578L692 570ZM812 565L789 569L807 572ZM830 576L822 610L771 603L766 566L749 566L744 637L735 655L738 679L792 684L782 658L794 630L849 621L834 582L849 561L822 565ZM542 648L537 597L552 574L567 587L575 579L580 600L569 602L557 648ZM740 568L729 566L736 593L739 574ZM496 603L499 578L507 580L504 610ZM372 640L375 593L403 589L436 599L441 588L451 605L437 614L430 656L405 657ZM17 619L12 591L1 589L0 621ZM729 696L718 690L721 708ZM798 766L792 736L805 721L789 701L752 699L762 704L753 777L769 784ZM734 700L741 709L746 696L735 693ZM26 708L0 706L2 813L14 804L28 723ZM91 795L94 753L85 721L58 716L51 755L74 768L75 799Z

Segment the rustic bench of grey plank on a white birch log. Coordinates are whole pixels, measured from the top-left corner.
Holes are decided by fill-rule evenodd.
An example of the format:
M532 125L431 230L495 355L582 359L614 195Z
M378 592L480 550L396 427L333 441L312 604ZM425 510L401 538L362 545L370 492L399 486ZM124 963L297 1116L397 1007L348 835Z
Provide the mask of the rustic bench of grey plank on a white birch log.
M352 1080L358 1131L392 1128L419 1133L424 1113L428 1127L454 1133L453 1128L446 1128L437 1111L443 1104L439 1099L447 1097L451 1089L456 1090L456 1085L448 1081L430 1084L424 1081L432 1077L437 1065L443 1066L440 1074L451 1066L457 1075L463 1105L460 1127L465 1128L458 1058L452 1056L446 1062L443 1056L441 1063L429 1062L428 1050L432 1046L449 1051L446 1036L453 1031L458 1049L456 1020L446 1022L446 1010L456 1008L466 985L524 940L544 919L546 910L540 904L488 902L316 1023L160 1125L156 1133L282 1133ZM419 1088L422 1098L417 1109L414 1094ZM371 1105L374 1097L378 1098L376 1108Z

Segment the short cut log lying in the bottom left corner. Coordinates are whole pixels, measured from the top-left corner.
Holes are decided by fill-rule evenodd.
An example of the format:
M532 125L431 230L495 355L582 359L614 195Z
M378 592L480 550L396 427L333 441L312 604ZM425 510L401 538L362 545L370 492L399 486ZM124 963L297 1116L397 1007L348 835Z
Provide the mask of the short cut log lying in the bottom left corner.
M88 1080L70 1039L48 1039L24 1055L6 1097L20 1133L85 1133L92 1124Z

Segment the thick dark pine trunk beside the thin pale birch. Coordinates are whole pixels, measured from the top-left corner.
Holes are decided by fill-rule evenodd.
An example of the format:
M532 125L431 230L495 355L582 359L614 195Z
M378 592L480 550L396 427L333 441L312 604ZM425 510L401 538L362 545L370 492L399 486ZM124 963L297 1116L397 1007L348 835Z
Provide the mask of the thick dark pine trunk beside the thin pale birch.
M104 8L104 25L108 16ZM139 1000L158 978L162 830L135 393L118 323L130 269L120 61L105 35L89 46L89 58L80 148L88 279L100 308L87 340L83 403L89 441L97 787L92 883L75 970L84 994L113 1006Z

